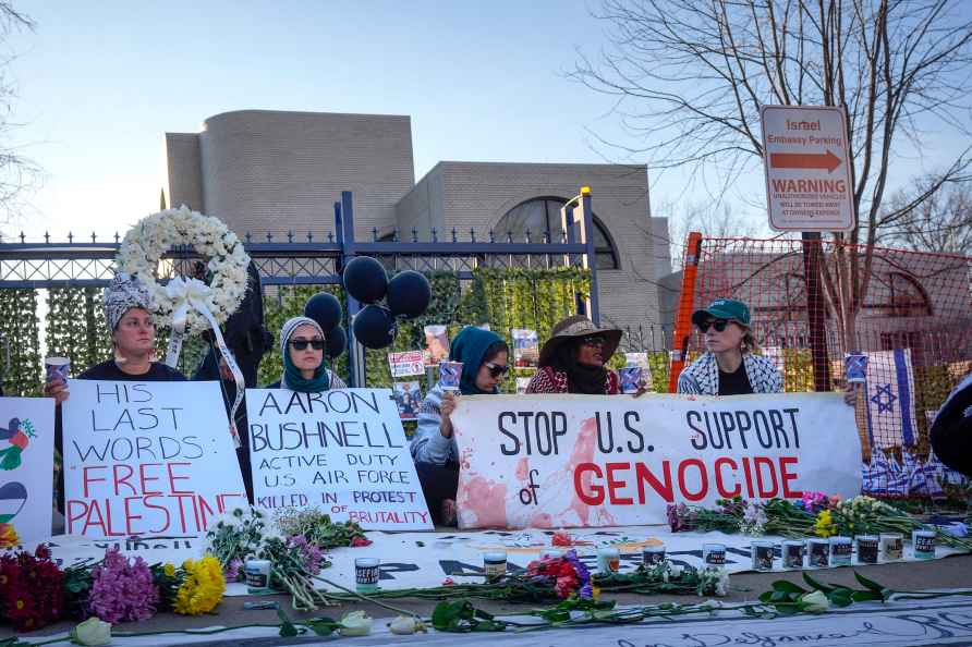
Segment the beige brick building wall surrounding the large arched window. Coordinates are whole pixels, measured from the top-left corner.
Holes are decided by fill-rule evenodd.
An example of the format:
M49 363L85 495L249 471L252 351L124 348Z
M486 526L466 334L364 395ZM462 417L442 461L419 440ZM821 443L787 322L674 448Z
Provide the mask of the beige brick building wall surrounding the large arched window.
M656 322L658 302L644 167L440 162L399 203L399 228L405 233L416 227L426 240L430 227L440 232L454 227L463 239L472 228L477 237L486 240L488 231L521 203L537 197L570 198L583 185L591 186L594 215L613 242L620 265L618 270L597 272L603 321L622 327ZM437 199L441 200L440 209ZM536 233L539 236L542 232Z

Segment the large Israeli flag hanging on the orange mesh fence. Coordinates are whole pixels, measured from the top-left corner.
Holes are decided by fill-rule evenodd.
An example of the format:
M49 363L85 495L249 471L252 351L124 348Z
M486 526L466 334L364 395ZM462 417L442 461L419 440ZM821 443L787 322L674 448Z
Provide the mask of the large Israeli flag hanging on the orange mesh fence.
M911 350L876 351L867 361L867 434L874 448L914 445L914 373Z

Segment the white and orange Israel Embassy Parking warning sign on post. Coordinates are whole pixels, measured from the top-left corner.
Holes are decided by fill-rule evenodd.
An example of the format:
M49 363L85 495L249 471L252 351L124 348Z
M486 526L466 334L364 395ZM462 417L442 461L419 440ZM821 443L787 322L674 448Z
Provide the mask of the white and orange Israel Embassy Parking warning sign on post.
M853 185L842 108L763 106L769 224L777 231L853 229Z

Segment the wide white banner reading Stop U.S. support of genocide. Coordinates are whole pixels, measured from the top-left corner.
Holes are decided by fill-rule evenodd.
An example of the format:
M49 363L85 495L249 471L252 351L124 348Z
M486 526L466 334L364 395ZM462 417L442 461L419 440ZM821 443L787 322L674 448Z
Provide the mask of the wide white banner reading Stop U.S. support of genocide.
M660 524L682 501L861 491L836 393L463 396L452 426L462 528Z

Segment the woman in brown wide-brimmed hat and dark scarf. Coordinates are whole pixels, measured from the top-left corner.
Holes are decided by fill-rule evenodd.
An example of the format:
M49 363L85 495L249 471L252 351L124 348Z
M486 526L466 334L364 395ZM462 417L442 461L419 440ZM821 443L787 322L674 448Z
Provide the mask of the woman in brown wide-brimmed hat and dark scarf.
M621 381L617 371L605 367L619 343L620 330L598 328L583 315L558 321L550 339L540 349L538 368L526 386L526 392L620 393Z

